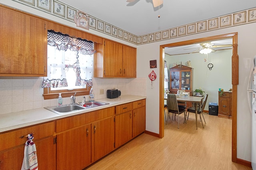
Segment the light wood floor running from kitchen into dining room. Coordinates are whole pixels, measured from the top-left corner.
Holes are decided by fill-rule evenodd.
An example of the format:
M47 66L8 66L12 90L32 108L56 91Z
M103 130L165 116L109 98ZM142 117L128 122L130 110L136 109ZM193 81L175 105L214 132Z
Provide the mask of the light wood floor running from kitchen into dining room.
M204 114L205 128L195 114L187 124L180 115L168 120L164 138L141 134L88 167L88 170L251 170L231 161L232 120Z

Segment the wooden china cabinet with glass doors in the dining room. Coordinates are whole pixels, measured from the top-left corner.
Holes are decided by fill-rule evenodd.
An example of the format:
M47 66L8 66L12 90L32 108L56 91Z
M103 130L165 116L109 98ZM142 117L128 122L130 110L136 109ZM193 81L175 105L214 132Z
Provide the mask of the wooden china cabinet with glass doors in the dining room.
M170 68L170 93L177 94L178 90L185 90L193 96L193 68L184 65Z

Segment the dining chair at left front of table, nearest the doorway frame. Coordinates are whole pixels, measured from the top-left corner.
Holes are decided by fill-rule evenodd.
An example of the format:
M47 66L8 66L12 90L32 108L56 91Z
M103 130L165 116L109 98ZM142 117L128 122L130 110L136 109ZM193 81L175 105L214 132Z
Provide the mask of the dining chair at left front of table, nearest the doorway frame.
M184 123L185 123L186 122L186 114L185 114L186 109L184 109L182 107L178 107L176 94L168 94L167 95L167 108L168 108L168 117L167 117L167 120L166 120L166 124L167 124L168 118L170 118L170 113L172 113L172 120L173 120L173 115L176 116L176 114L178 114L178 129L180 129L179 115L181 113L184 113Z

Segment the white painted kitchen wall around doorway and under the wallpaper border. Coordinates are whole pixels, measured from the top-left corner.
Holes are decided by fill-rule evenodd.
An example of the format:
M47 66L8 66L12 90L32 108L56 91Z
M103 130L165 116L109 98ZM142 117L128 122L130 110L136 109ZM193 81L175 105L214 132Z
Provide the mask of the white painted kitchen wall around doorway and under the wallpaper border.
M74 27L74 23L63 20L56 16L51 16L42 11L29 8L20 3L8 0L1 1L2 4L7 6L12 6L14 8L28 11L32 14L37 14L39 16L44 16L45 18L51 18L51 20L58 21L65 25ZM168 43L174 43L179 41L186 41L190 39L197 39L202 37L209 37L214 35L234 33L238 32L238 55L239 55L239 85L238 85L238 117L237 117L237 157L243 160L251 161L251 113L248 108L247 102L247 82L250 68L253 63L253 57L256 55L256 23L238 25L235 27L227 27L218 30L197 33L193 35L176 37L174 39L168 39L164 41L158 41L154 43L148 43L144 45L138 45L137 47L137 78L141 78L141 81L145 81L146 85L146 130L153 133L159 133L159 46ZM90 30L90 33L118 41L133 47L136 45L122 41L110 35L100 33L95 30ZM157 60L158 67L150 68L149 61ZM154 70L157 74L156 80L153 82L153 87L151 88L151 82L148 78L148 74ZM139 80L140 81L140 80ZM37 82L37 80L36 80ZM13 82L12 82L13 84ZM4 92L15 94L15 90L8 89ZM1 98L3 98L1 96ZM4 100L4 99L2 99ZM12 99L15 101L16 98ZM10 101L10 102L12 102ZM0 108L1 110L1 108ZM231 145L231 144L230 144Z

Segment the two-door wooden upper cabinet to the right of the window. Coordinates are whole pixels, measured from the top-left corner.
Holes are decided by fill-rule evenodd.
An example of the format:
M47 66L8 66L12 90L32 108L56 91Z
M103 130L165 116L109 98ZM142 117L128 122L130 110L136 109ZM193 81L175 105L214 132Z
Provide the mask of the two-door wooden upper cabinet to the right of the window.
M94 49L94 77L136 77L136 48L105 40L104 46L95 43Z

